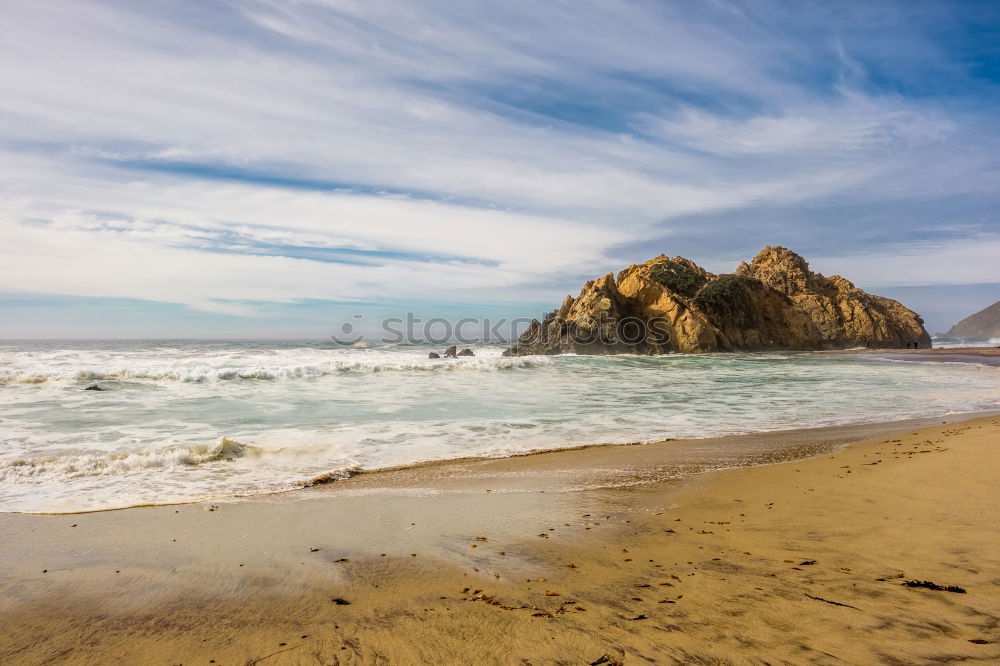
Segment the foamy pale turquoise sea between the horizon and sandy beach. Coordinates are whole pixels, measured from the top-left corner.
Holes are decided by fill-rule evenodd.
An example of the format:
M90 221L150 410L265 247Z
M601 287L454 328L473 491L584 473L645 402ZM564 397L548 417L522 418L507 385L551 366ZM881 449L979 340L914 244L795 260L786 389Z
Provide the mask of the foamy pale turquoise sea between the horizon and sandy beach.
M0 343L0 510L300 487L424 460L1000 408L1000 368L832 354L431 361L425 347ZM83 391L98 383L103 392Z

